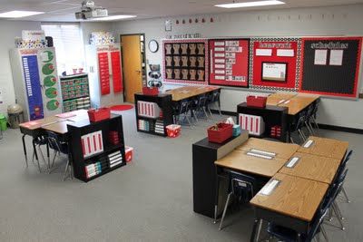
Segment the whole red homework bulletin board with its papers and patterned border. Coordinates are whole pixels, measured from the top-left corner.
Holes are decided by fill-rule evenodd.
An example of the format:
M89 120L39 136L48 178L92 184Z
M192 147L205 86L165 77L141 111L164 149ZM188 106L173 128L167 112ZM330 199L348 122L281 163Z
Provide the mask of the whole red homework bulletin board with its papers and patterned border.
M300 47L300 38L252 38L250 40L250 88L267 91L297 91L301 60Z

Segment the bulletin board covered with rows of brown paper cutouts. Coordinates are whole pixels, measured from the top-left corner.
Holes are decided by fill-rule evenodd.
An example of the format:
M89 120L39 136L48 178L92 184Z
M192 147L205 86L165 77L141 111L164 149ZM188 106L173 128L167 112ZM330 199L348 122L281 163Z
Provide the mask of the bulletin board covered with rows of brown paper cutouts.
M164 40L162 51L164 82L208 84L208 40Z

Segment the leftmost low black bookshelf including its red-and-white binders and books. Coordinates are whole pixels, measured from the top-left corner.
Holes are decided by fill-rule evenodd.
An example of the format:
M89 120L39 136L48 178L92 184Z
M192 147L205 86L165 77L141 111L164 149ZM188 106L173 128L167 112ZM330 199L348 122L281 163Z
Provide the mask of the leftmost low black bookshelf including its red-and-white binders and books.
M74 177L84 182L126 164L123 117L67 125Z

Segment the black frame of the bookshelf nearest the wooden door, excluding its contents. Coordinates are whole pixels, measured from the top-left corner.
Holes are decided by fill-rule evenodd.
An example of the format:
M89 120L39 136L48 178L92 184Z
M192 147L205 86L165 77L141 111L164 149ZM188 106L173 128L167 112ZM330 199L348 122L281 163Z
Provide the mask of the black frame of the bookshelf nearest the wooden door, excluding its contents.
M162 111L162 118L148 118L143 117L139 115L138 105L137 102L154 102L157 103L159 108ZM171 94L165 94L165 93L159 93L158 95L145 95L142 93L135 93L135 115L136 115L136 128L139 132L149 133L153 135L158 136L167 136L166 133L166 126L172 124L172 95ZM151 125L153 128L151 128L149 131L143 131L139 127L139 121L148 121L149 125ZM163 124L163 133L158 133L155 131L155 122L160 121Z

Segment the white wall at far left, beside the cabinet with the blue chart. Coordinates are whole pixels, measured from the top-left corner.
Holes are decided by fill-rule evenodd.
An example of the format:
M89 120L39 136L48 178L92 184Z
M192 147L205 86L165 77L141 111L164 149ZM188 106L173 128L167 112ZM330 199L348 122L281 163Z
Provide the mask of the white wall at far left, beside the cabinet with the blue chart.
M40 22L16 22L0 20L0 89L4 92L4 103L0 112L6 113L7 105L15 103L13 74L9 61L9 50L15 48L15 37L22 36L22 30L40 29Z

